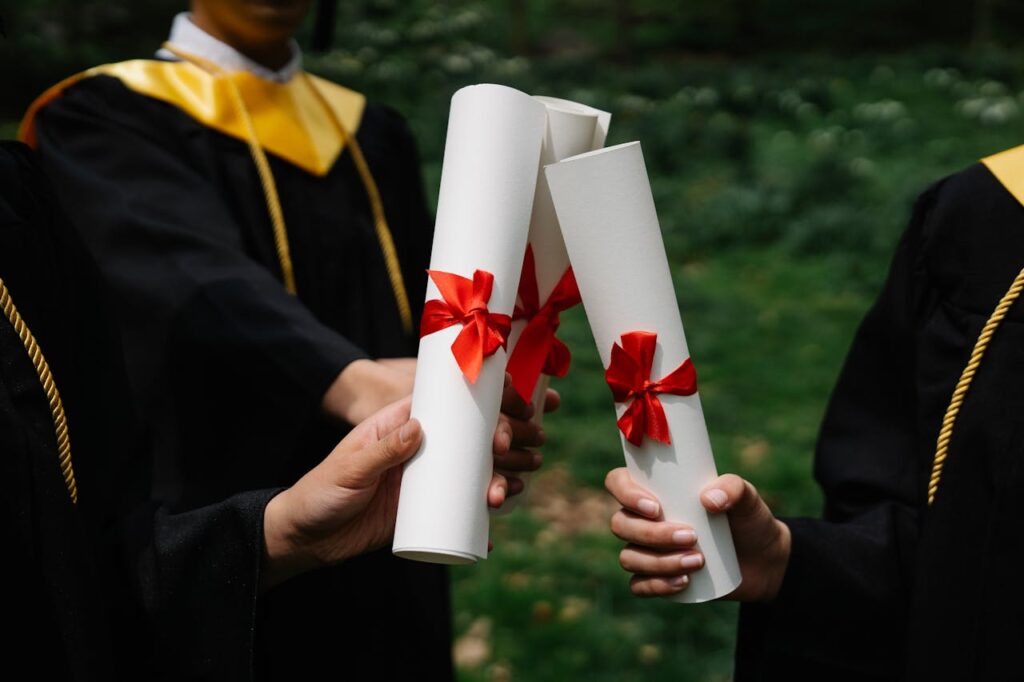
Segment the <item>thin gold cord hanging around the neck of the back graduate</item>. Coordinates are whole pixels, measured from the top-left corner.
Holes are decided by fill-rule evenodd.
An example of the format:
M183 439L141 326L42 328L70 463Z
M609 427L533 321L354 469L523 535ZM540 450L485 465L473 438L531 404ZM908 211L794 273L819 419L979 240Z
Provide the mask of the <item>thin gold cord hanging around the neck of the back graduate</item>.
M179 58L184 59L185 61L190 61L207 72L215 74L223 73L223 70L216 65L196 57L191 54L186 54L178 50L170 43L164 43L164 48ZM305 72L302 72L302 77L305 79L306 85L312 90L317 100L319 100L321 104L327 111L331 122L337 129L338 134L341 136L342 144L347 143L349 150L351 151L352 162L355 164L356 171L359 173L359 179L362 181L367 196L370 199L370 208L374 215L374 227L377 230L377 240L380 243L381 251L384 254L384 264L387 268L388 279L391 282L391 290L394 292L395 302L398 306L398 314L401 317L401 327L407 334L412 334L413 313L409 304L409 295L406 292L406 283L401 276L401 267L398 264L398 256L394 248L394 240L391 237L391 230L388 228L387 220L384 216L384 206L381 202L380 191L377 189L377 183L374 181L374 176L370 172L370 167L367 165L366 158L362 156L362 151L359 148L358 142L355 141L355 136L348 133L345 127L341 124L341 121L338 120L338 117L335 116L334 110L330 104L328 104L324 95L316 88L313 82L306 77ZM285 225L285 215L281 209L281 200L278 196L278 186L273 180L273 173L270 170L270 164L266 160L266 153L259 143L259 138L256 135L256 128L253 125L252 117L249 114L249 110L242 97L238 84L236 84L231 78L226 78L224 80L227 81L232 104L238 111L245 126L246 142L249 145L249 153L252 155L253 162L256 164L256 171L259 174L260 184L263 186L263 196L266 199L267 211L270 214L270 223L273 226L273 242L278 251L278 260L281 263L281 273L284 280L285 289L294 295L297 292L295 286L295 268L292 265L292 254L288 242L288 228Z

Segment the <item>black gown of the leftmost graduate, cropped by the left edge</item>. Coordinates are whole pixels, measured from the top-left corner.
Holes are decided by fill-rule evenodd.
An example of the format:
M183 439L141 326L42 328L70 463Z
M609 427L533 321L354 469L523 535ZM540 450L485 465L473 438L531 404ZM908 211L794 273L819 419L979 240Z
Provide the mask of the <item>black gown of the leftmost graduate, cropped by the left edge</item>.
M74 505L46 394L0 314L5 662L46 680L244 678L275 491L188 514L150 499L151 460L98 271L15 143L0 143L0 279L60 392L79 491Z

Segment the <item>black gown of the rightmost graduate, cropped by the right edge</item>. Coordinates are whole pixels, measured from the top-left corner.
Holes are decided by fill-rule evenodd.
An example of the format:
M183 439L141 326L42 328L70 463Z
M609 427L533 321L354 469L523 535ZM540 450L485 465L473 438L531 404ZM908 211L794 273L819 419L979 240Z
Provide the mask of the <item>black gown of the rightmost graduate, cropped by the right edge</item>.
M952 390L1024 266L1024 207L983 165L926 191L833 394L824 519L785 519L770 605L744 605L735 679L1015 680L1024 644L1024 305L998 328L927 485Z

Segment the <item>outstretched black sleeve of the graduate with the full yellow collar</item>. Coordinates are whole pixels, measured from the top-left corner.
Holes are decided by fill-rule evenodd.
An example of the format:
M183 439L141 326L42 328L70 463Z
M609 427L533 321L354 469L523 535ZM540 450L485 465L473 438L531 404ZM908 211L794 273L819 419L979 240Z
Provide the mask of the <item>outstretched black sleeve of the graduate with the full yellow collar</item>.
M246 253L244 230L211 181L181 154L167 105L98 76L69 88L36 121L47 174L117 290L120 317L145 363L166 344L215 357L247 390L294 410L319 404L364 349L325 326ZM134 327L132 327L134 326ZM157 367L137 367L143 377ZM133 369L133 376L135 376Z

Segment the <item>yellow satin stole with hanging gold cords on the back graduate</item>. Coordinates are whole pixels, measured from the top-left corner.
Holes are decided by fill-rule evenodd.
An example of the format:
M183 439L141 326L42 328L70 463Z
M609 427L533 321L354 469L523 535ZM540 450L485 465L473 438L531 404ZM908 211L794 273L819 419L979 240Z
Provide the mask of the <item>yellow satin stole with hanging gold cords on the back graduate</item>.
M83 79L112 76L139 94L173 104L204 126L245 141L259 173L282 279L292 294L296 293L296 286L288 230L265 151L310 174L324 176L347 147L370 200L374 228L402 329L412 334L412 309L394 240L377 183L354 135L366 109L366 97L305 72L287 83L275 83L244 71L223 72L173 45L165 47L181 61L133 59L103 65L57 83L29 108L18 137L35 146L35 119L43 106Z

